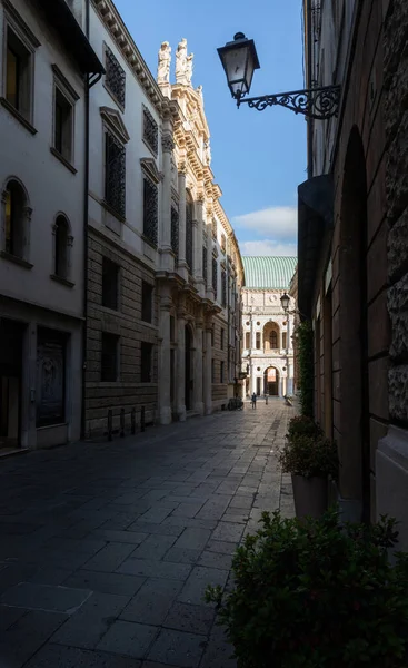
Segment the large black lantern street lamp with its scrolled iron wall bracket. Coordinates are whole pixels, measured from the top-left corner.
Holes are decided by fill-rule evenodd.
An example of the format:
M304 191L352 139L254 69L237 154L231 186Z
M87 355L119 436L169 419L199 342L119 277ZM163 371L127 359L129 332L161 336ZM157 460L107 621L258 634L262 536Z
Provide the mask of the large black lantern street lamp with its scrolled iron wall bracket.
M249 94L253 72L259 69L259 60L253 39L247 39L243 32L237 32L233 41L227 42L218 50L222 67L227 75L228 87L237 107L246 102L249 107L263 111L267 107L286 107L295 114L307 118L327 120L338 115L340 86L324 86L290 92L277 92L256 98L242 99Z

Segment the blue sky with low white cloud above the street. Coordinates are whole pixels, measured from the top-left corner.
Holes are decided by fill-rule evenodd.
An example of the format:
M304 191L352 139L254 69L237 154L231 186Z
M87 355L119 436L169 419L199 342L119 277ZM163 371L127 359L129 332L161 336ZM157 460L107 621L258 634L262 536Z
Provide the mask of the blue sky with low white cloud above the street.
M306 121L288 109L238 110L217 47L238 31L255 39L261 69L251 95L303 88L301 0L116 0L151 71L165 40L195 53L192 84L203 87L211 168L245 255L296 252L297 186L306 174Z

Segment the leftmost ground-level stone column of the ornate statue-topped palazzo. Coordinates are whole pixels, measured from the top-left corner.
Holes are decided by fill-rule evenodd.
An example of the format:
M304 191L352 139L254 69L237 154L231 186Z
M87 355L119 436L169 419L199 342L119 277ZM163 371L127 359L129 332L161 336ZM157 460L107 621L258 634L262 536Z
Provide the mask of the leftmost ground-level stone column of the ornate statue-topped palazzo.
M167 291L169 292L169 291ZM159 409L160 424L170 424L171 422L171 401L170 401L170 308L171 296L163 294L160 296L159 311Z

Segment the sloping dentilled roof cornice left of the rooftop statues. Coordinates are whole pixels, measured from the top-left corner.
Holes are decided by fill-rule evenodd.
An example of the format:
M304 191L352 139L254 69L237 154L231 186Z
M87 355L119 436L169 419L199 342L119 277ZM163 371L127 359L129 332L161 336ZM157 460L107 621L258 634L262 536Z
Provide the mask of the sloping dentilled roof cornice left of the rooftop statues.
M129 69L138 79L157 111L162 116L169 109L169 100L162 95L113 2L111 0L92 0L92 4L116 46L121 51Z

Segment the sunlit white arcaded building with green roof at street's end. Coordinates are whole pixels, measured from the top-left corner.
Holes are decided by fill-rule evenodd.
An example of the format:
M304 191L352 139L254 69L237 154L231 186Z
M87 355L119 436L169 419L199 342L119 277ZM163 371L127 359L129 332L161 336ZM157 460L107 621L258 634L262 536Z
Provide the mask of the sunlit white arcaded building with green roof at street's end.
M290 297L286 314L280 297L289 292L296 257L242 257L242 394L293 394L293 317Z

